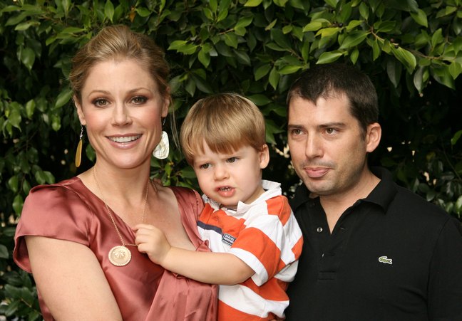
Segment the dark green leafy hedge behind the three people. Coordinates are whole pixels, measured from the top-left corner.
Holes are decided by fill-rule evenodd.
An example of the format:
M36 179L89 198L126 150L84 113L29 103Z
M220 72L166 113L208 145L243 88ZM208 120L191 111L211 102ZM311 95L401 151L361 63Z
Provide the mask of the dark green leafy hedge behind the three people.
M288 196L299 183L285 137L289 85L316 63L356 65L379 93L384 137L371 164L461 219L461 0L1 1L0 315L41 319L31 276L11 260L16 222L31 186L91 166L88 144L73 165L80 126L66 78L73 53L116 23L165 48L179 124L211 93L260 107L272 155L264 176ZM152 165L164 184L197 187L175 147Z

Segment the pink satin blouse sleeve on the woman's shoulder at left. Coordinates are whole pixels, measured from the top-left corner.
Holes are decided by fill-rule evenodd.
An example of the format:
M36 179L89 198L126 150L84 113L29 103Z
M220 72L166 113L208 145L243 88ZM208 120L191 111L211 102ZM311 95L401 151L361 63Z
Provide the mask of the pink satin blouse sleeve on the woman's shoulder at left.
M31 273L24 236L45 236L88 246L89 214L86 203L66 186L43 185L31 189L16 227L14 261Z

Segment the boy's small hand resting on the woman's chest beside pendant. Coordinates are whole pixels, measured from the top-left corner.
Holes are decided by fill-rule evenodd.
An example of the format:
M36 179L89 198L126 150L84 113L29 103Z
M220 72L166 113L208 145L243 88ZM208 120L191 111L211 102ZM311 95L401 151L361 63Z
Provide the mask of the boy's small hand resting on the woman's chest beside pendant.
M163 261L171 248L163 231L149 224L138 224L134 231L138 251L148 254L150 261L163 265Z

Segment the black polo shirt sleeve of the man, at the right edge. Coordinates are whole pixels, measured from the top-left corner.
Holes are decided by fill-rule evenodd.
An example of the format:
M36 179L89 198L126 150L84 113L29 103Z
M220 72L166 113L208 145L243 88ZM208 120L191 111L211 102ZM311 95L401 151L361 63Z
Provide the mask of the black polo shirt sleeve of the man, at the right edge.
M428 316L433 321L462 320L462 232L453 218L446 221L433 251Z

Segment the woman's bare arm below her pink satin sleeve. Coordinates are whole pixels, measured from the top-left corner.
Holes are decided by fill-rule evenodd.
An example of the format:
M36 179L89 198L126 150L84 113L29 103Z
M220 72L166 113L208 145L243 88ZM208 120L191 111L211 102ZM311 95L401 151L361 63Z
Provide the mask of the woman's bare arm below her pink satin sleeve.
M82 244L26 236L38 290L56 320L122 320L93 252Z

